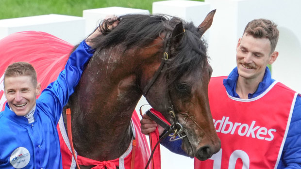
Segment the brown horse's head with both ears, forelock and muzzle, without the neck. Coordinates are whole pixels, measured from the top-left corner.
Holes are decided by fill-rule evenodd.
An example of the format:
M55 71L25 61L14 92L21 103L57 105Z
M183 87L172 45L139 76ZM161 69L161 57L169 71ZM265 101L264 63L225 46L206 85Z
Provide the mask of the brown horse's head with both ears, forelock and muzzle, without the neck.
M183 127L184 151L200 160L220 149L208 100L212 68L201 40L214 13L209 13L198 28L192 23L183 26L179 18L166 22L162 62L157 62L157 69L144 87L144 96L151 106L170 123L179 123L175 127L178 131Z

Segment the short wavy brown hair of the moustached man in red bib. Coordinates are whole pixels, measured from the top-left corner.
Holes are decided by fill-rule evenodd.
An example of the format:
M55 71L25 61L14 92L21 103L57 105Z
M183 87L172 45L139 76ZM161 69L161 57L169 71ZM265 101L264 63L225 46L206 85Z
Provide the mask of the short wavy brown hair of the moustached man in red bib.
M275 51L279 31L277 25L272 21L268 19L254 19L247 24L244 34L245 33L252 35L254 38L268 38L271 45L270 53Z

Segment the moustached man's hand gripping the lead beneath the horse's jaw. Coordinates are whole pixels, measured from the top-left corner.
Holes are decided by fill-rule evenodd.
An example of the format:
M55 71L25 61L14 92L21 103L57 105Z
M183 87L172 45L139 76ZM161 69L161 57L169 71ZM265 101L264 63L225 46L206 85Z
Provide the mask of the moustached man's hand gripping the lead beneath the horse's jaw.
M142 119L140 120L141 123L141 132L145 135L149 135L149 133L156 130L158 127L159 130L159 136L163 133L164 128L161 125L158 125L155 121L151 120L151 118L143 114Z

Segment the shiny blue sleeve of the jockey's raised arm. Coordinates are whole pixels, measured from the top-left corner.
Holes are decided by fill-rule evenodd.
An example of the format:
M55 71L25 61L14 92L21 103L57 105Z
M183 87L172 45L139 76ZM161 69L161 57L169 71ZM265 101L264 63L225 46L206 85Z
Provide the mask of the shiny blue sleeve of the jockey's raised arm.
M82 73L93 56L94 50L83 41L74 52L71 53L65 69L59 74L57 79L50 83L41 93L39 101L42 102L42 108L54 118L57 123L62 108L67 104L69 96L74 92Z

